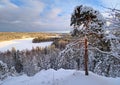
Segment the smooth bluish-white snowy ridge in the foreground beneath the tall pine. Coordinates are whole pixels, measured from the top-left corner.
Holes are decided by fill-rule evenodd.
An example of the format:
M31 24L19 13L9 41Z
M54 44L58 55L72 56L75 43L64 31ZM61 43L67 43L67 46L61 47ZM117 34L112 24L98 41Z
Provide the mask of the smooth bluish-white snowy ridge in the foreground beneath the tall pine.
M92 72L85 76L83 71L49 69L42 70L33 77L8 77L0 81L0 85L120 85L120 78L106 78Z

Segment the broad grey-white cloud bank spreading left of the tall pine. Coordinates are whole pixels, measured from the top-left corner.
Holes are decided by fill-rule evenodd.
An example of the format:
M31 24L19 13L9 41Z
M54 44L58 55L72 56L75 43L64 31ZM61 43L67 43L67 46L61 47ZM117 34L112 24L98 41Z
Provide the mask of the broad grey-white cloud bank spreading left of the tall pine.
M52 8L43 13L45 4L40 0L21 0L24 6L17 6L10 0L1 0L0 3L0 30L3 31L41 31L64 30L69 28L69 15L58 16L62 10ZM3 5L4 3L4 5ZM44 16L40 16L43 13Z

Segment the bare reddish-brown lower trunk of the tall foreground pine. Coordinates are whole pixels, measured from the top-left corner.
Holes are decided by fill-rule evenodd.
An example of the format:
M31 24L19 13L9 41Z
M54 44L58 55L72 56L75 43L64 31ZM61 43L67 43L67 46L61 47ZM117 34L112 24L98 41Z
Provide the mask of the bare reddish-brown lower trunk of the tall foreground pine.
M87 37L85 36L85 55L84 55L84 66L85 66L85 75L88 75L88 45Z

